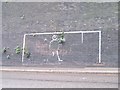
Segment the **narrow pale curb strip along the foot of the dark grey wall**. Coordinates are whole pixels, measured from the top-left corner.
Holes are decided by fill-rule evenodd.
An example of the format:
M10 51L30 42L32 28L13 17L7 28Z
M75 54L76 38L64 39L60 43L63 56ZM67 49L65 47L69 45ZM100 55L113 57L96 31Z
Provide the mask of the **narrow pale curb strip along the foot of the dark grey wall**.
M61 69L9 69L2 68L0 71L11 72L41 72L41 73L98 73L98 74L118 74L118 69L74 69L74 70L61 70Z

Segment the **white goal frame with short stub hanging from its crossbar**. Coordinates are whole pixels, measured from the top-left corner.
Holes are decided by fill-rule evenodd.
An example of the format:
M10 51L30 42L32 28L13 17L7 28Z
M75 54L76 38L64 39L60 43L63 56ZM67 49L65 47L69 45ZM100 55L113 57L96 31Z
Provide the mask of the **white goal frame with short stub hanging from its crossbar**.
M98 57L98 63L102 63L101 60L101 31L69 31L69 32L64 32L64 34L78 34L81 33L81 41L83 43L84 40L84 33L98 33L99 35L99 57ZM23 37L23 51L22 51L22 63L24 62L24 52L25 52L25 45L26 45L26 37L27 36L33 36L33 35L54 35L54 34L61 34L61 32L46 32L46 33L28 33L28 34L24 34Z

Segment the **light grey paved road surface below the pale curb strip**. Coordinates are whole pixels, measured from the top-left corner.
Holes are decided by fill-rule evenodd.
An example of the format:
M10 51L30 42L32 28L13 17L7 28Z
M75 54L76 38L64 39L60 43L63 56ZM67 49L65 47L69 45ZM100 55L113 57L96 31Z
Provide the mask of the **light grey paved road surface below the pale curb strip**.
M117 74L2 73L3 88L117 88Z

